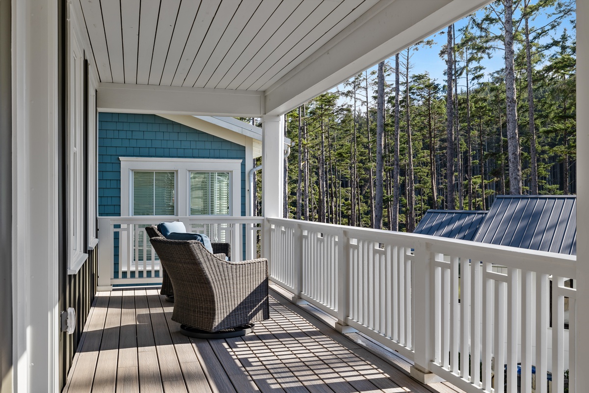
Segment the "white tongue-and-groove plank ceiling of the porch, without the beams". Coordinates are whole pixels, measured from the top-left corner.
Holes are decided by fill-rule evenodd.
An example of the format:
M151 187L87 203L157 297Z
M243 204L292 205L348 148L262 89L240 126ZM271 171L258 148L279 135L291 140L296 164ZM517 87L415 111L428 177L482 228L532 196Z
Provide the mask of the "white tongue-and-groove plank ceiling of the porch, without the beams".
M376 0L80 3L101 82L259 91L379 4Z

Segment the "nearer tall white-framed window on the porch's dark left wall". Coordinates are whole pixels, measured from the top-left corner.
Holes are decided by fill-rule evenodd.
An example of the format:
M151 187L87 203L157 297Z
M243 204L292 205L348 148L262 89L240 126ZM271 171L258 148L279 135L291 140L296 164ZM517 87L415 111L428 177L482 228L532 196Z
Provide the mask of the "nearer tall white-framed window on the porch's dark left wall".
M84 52L77 36L71 8L68 25L68 136L67 136L67 206L68 273L75 274L84 265L86 253L85 171L84 171Z

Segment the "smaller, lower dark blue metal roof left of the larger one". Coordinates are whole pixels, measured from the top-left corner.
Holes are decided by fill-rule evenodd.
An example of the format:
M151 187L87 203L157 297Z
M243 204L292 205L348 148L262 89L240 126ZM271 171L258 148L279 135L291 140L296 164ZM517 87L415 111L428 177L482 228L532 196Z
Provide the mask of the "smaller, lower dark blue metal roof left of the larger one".
M413 233L474 240L486 210L428 210Z

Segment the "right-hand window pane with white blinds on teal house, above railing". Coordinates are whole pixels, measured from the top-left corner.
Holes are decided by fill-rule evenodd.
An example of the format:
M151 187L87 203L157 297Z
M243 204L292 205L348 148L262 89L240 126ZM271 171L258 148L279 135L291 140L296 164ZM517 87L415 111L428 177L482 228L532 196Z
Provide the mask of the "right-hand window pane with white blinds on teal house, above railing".
M190 172L190 214L230 214L229 172Z

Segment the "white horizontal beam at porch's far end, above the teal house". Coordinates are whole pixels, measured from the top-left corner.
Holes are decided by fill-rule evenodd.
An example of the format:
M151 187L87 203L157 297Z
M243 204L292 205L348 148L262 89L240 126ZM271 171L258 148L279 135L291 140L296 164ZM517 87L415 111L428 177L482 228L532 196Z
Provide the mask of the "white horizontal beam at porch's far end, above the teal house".
M260 91L101 83L99 111L261 117Z

